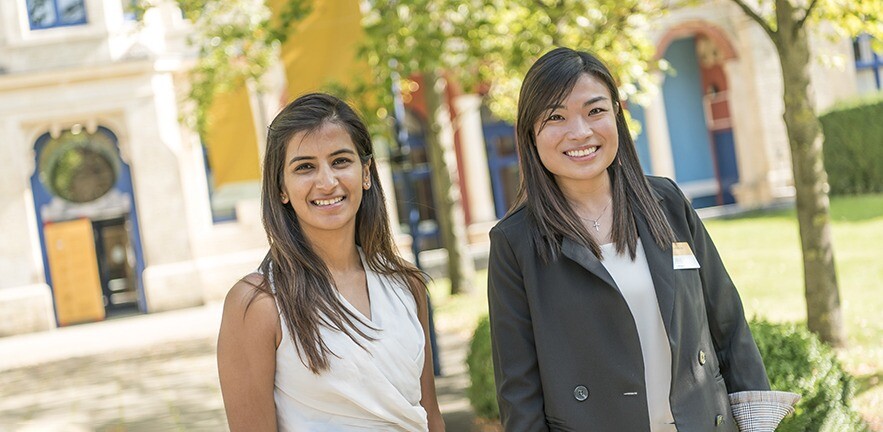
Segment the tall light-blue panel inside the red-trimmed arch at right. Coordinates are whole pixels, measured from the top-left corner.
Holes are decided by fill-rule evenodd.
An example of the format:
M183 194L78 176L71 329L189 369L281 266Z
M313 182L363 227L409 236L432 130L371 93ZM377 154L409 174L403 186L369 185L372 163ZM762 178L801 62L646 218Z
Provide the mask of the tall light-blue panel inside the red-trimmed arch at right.
M672 42L665 51L665 59L676 72L675 76L666 76L662 86L675 178L681 183L713 179L714 165L702 109L696 40L686 38Z

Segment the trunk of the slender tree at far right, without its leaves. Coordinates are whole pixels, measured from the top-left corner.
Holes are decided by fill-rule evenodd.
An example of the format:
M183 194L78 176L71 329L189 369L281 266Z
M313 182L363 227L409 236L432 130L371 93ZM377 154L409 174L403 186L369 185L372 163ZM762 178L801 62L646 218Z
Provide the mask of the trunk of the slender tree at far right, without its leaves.
M797 220L803 251L807 325L834 346L846 344L828 200L828 174L822 160L822 130L810 88L810 51L806 28L798 25L787 0L777 6L773 42L782 65L785 126L797 192Z

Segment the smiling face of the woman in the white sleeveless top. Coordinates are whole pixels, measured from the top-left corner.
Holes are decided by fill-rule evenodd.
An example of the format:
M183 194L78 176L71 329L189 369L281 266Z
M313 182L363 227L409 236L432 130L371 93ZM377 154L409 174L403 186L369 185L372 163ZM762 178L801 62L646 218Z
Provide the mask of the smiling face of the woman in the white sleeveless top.
M342 231L353 236L362 192L370 187L364 164L346 129L326 122L298 132L288 141L283 174L283 203L290 203L301 228L313 239Z

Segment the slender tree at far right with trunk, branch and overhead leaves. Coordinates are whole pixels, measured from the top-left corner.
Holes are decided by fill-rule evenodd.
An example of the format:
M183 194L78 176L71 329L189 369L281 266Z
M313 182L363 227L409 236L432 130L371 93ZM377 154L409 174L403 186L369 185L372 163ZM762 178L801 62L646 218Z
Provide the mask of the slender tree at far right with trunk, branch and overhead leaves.
M731 0L769 36L779 55L784 87L785 126L797 195L803 252L807 324L834 346L846 344L822 160L824 136L812 98L810 35L833 31L839 37L868 32L883 37L879 0Z

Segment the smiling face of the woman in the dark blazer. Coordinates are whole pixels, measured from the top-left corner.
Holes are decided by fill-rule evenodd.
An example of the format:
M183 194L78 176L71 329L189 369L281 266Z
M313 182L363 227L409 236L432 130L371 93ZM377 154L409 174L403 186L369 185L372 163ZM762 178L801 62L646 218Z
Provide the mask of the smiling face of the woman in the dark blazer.
M534 125L537 154L565 196L609 182L619 148L616 109L602 81L582 74L570 94Z

